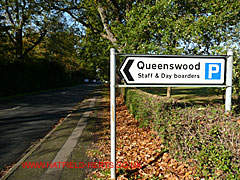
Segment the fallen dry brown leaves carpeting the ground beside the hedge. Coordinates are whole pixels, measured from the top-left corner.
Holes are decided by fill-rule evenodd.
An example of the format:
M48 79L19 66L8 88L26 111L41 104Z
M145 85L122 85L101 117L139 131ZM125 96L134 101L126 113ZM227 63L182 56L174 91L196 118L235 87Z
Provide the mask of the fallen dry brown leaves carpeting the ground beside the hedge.
M107 114L109 116L109 113ZM178 162L166 153L165 147L161 144L160 137L150 128L139 128L139 123L127 110L120 98L117 98L117 162L129 164L128 168L117 168L117 179L199 179L194 178L195 168L184 162ZM105 133L106 134L106 133ZM100 161L110 161L110 136L108 135L97 143L102 152L98 156ZM131 167L130 164L140 164L141 167ZM100 170L95 171L89 177L105 179ZM90 178L94 179L94 178Z

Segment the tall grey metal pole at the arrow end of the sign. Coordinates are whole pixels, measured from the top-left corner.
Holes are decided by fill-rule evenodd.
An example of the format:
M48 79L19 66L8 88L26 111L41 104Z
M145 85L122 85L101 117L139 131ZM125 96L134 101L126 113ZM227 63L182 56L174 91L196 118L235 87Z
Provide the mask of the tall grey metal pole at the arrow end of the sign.
M110 49L110 116L111 116L111 179L116 179L116 56L115 49Z

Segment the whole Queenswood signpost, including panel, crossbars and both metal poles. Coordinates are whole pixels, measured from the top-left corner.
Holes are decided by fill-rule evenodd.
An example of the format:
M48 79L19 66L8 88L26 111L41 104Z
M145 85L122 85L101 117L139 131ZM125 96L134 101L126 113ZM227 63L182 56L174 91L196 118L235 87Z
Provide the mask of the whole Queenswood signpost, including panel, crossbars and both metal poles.
M111 179L116 179L116 55L125 56L117 87L226 87L225 112L231 110L233 51L222 56L117 54L110 50Z

